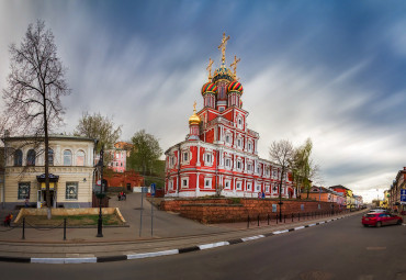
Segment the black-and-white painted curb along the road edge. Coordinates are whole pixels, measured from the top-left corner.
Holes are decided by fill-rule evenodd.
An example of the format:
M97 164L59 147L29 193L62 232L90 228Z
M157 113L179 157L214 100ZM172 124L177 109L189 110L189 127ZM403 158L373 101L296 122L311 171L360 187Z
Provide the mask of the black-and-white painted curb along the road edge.
M325 223L329 223L332 221L337 221L347 216L340 216L327 221L322 221L313 224L302 225L297 227L292 227L289 229L275 231L271 233L264 233L260 235L253 235L243 238L230 239L226 242L216 242L211 244L202 244L199 246L191 246L184 247L179 249L170 249L170 250L161 250L161 251L151 251L151 253L139 253L133 255L117 255L117 256L102 256L102 257L83 257L83 258L30 258L30 257L2 257L0 256L0 261L8 261L8 262L26 262L26 264L95 264L95 262L111 262L111 261L122 261L122 260L129 260L129 259L143 259L143 258L153 258L159 256L169 256L169 255L177 255L177 254L185 254L190 251L196 250L205 250L212 249L216 247L229 246L240 243L246 243L250 240L256 240L264 237L270 237L279 234L290 233L294 231L301 231L307 227L322 225Z

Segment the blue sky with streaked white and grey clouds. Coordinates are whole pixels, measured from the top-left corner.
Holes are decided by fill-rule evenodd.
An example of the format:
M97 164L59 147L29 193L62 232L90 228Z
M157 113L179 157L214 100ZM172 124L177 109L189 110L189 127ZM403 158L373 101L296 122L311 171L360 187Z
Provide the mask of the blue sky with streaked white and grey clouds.
M9 46L37 20L55 35L71 94L74 132L83 112L122 125L122 139L146 130L163 150L184 141L208 58L236 55L248 127L259 155L273 141L314 144L326 187L364 201L383 198L406 166L406 2L314 0L0 0L0 89ZM0 100L0 108L3 108Z

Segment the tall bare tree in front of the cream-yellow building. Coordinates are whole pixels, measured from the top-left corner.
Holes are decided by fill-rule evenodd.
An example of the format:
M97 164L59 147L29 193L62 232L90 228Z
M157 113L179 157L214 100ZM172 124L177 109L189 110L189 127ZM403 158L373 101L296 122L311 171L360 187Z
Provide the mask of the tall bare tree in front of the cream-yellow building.
M5 114L23 134L33 134L45 146L46 203L49 193L49 131L61 123L64 108L60 98L70 93L65 81L66 68L56 54L50 30L43 21L30 24L20 47L10 46L11 74L3 90ZM50 211L48 211L50 212Z

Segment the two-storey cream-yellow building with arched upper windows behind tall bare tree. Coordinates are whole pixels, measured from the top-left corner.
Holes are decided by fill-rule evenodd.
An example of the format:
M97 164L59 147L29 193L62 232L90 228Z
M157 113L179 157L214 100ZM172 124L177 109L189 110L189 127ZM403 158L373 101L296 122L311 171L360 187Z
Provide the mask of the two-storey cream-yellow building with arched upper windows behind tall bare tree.
M26 203L40 208L46 195L44 143L33 144L30 137L2 141L7 150L2 204L8 209ZM49 189L54 208L91 208L94 144L94 139L84 137L49 137Z

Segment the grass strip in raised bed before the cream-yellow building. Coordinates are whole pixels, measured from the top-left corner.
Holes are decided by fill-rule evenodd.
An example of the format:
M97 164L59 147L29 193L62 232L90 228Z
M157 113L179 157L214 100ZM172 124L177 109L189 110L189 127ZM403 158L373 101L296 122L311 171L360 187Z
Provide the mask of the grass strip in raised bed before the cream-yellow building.
M98 225L99 215L53 215L50 220L46 215L26 215L25 222L32 226L59 226L64 225L64 219L67 219L68 226L89 226ZM21 223L22 224L22 220ZM103 225L123 225L124 223L116 215L103 215Z

